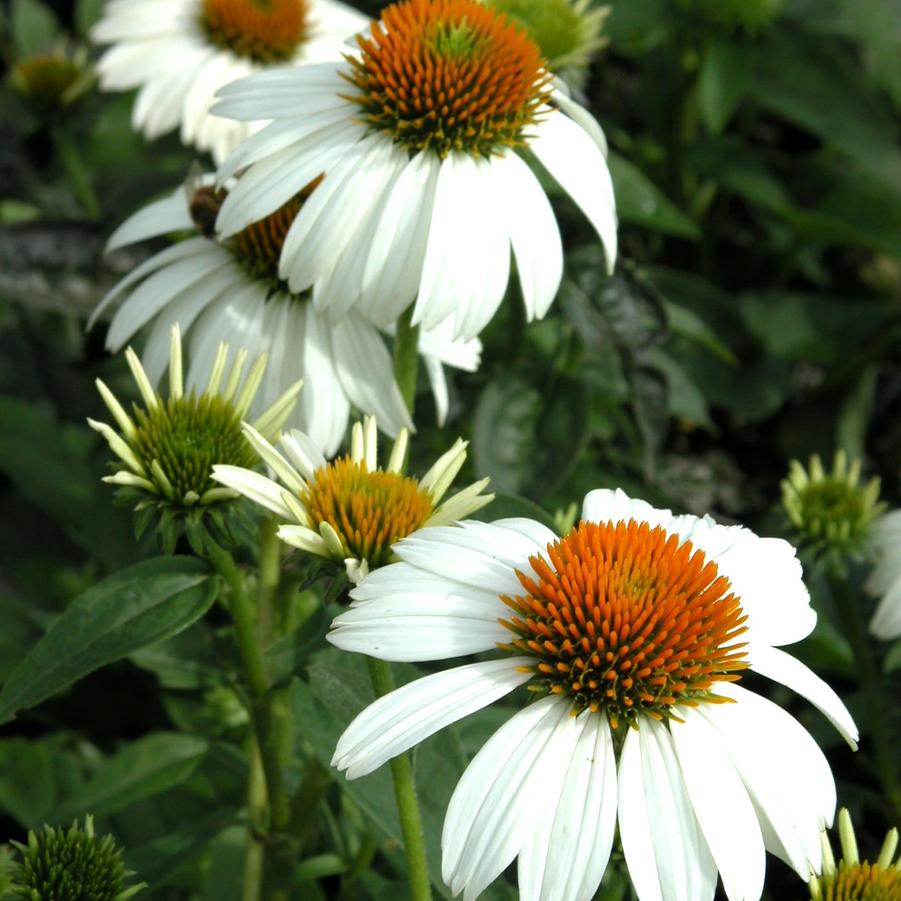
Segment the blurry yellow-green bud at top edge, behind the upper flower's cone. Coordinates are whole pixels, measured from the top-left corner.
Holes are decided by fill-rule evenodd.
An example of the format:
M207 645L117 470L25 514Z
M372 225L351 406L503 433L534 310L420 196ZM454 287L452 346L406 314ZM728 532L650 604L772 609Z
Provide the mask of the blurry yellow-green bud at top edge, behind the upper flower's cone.
M581 79L591 57L607 45L601 35L609 6L591 0L484 0L506 14L538 44L548 68L566 80Z

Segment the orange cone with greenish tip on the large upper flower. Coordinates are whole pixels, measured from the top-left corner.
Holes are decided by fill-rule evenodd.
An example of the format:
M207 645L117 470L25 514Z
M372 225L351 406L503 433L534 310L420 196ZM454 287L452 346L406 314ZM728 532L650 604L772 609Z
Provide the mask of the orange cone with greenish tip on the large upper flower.
M525 144L547 103L538 45L477 0L404 0L382 11L348 56L364 121L411 153L474 156Z

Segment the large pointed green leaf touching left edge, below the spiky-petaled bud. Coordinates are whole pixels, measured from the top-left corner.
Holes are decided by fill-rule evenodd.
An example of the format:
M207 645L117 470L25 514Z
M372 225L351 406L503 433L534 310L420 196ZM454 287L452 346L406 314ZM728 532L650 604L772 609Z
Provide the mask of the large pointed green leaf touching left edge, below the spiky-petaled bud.
M124 569L77 597L0 691L0 723L107 663L169 638L200 619L218 580L190 557Z

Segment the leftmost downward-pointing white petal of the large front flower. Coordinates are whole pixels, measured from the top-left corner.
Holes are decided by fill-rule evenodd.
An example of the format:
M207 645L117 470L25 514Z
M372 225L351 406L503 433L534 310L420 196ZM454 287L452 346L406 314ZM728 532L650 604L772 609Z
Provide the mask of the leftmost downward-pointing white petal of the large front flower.
M475 899L503 872L535 829L572 756L576 722L569 706L543 698L501 726L466 768L447 808L441 872L453 894Z

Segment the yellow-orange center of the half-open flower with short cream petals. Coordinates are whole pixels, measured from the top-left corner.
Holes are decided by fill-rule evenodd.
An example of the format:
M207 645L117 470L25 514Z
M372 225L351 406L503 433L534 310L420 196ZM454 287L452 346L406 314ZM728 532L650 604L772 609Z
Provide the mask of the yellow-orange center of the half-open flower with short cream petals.
M327 522L351 556L370 568L388 562L391 545L415 532L432 514L432 499L416 479L372 472L361 460L341 457L313 474L301 496L316 528Z

